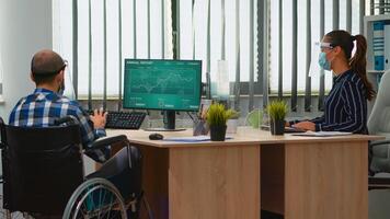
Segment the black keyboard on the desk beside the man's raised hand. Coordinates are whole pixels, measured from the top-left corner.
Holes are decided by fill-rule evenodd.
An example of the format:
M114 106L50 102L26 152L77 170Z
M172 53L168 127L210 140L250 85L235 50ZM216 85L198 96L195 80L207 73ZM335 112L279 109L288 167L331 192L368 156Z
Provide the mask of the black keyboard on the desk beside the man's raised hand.
M88 111L90 115L93 111ZM146 117L144 112L108 111L105 128L113 129L139 129Z

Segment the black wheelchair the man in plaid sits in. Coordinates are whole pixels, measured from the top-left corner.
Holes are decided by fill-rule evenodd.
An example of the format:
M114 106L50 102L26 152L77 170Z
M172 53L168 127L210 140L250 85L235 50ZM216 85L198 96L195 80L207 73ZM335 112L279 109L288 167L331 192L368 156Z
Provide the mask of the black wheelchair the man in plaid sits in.
M1 218L36 219L136 219L142 198L141 180L135 178L137 194L126 201L113 182L117 178L84 175L82 154L122 142L131 166L126 136L97 139L81 147L80 127L71 116L50 127L8 126L0 117L3 198ZM138 154L140 157L140 154ZM131 178L133 180L133 178ZM127 183L124 182L124 186ZM149 218L151 212L144 199ZM127 214L130 212L131 217Z

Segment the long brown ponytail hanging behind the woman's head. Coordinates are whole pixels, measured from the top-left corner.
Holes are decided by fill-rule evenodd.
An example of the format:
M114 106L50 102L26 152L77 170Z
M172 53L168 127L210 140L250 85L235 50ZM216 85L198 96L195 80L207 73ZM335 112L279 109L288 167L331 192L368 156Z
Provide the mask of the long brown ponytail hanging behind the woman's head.
M367 71L366 71L367 42L363 35L352 36L352 41L354 41L354 39L356 41L356 51L355 51L354 57L352 57L349 59L349 66L351 66L352 70L355 73L357 73L358 77L360 77L360 79L366 88L366 99L370 101L375 96L376 92L374 91L372 84L368 81L368 78L367 78Z

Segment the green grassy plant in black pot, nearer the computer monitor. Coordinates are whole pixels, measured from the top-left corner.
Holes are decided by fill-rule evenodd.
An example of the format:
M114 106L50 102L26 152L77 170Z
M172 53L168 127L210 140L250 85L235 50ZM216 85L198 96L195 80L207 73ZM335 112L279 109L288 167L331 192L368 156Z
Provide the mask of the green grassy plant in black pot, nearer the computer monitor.
M227 120L232 116L232 110L226 110L225 105L214 103L207 112L206 120L210 128L210 138L214 141L223 141L226 136Z

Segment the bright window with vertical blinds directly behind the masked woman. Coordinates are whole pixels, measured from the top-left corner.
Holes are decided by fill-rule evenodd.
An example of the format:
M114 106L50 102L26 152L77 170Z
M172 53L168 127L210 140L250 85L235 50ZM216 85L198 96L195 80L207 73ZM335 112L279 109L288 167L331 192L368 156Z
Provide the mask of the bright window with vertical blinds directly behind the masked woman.
M346 28L346 1L340 0L340 28ZM283 33L279 33L279 2L283 2ZM333 3L334 1L324 1L325 3L325 30L324 33L332 31L333 23ZM297 0L298 5L298 93L305 92L306 89L306 48L308 39L306 36L307 26L307 0ZM283 91L291 92L291 48L292 48L292 1L269 1L271 7L271 28L269 28L269 89L271 93L277 93L278 90L278 42L279 36L283 36ZM316 93L320 87L320 69L318 67L319 49L314 45L320 41L320 0L311 0L311 91ZM352 34L359 33L359 0L352 0ZM325 90L332 87L332 73L325 71Z

